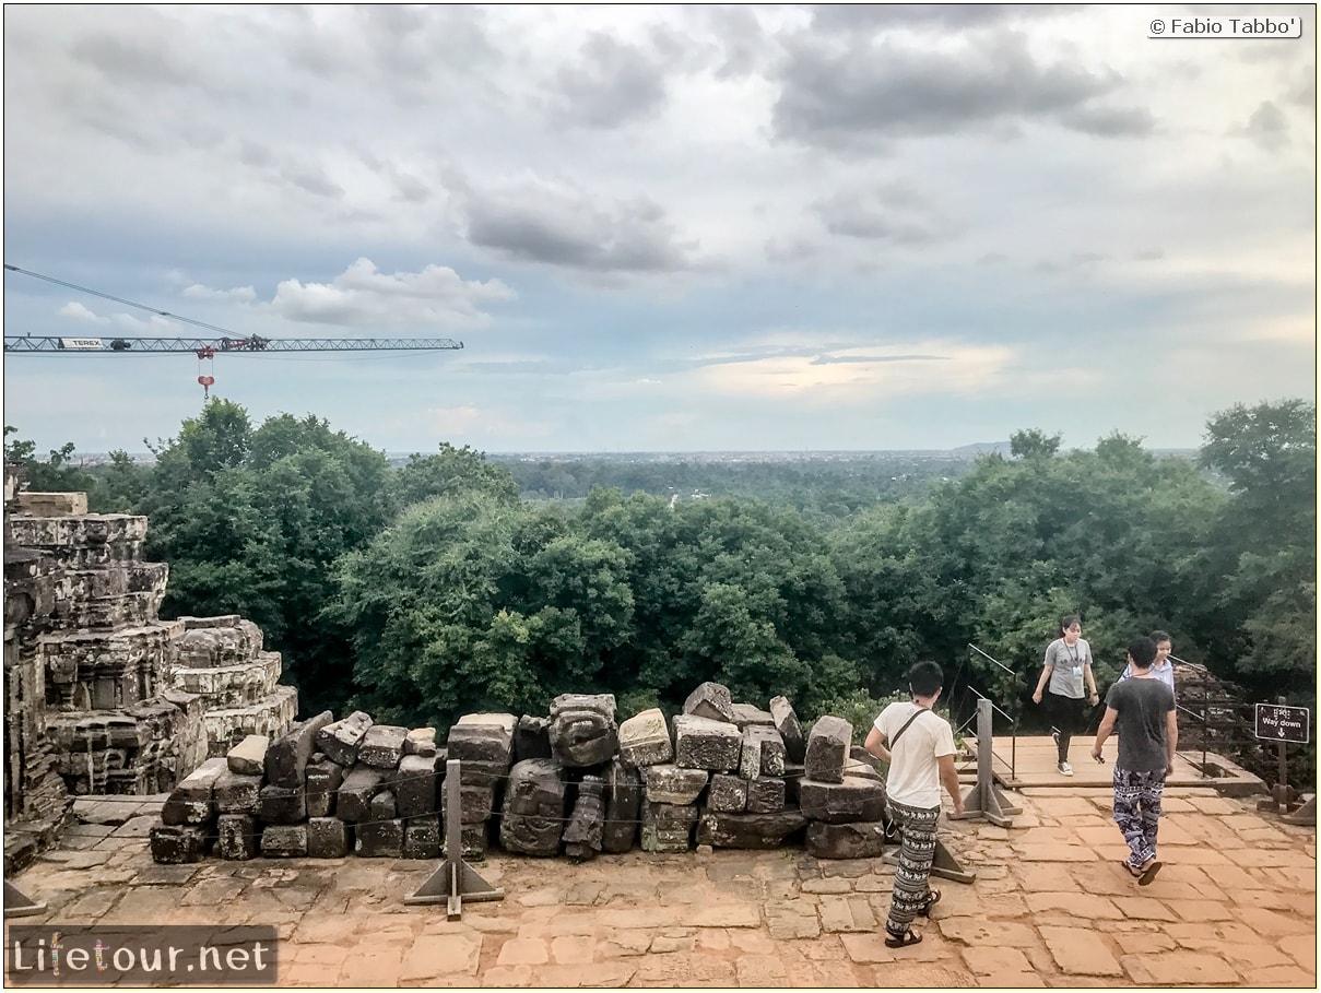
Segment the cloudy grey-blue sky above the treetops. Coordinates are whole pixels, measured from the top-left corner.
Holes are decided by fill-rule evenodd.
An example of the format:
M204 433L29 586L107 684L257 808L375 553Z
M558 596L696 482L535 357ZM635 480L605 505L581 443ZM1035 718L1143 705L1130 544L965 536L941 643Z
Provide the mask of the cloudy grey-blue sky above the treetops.
M1240 16L1247 8L1197 8ZM7 355L41 449L213 391L378 449L1192 448L1316 395L1316 22L1186 7L4 11L4 261L268 338ZM7 272L5 335L197 327Z

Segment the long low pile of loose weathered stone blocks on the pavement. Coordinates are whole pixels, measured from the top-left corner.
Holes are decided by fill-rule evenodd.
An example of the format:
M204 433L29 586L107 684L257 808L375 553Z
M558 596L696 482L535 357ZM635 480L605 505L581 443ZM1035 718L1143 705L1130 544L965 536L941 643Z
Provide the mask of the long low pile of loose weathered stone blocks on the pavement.
M325 712L205 762L165 803L151 850L157 862L194 862L213 849L240 861L437 858L444 780L457 759L465 858L491 844L573 861L634 844L878 856L885 784L871 761L855 758L851 738L839 717L804 736L785 697L761 710L717 683L697 687L668 721L650 709L617 722L608 693L561 695L544 717L468 714L444 747L432 728Z

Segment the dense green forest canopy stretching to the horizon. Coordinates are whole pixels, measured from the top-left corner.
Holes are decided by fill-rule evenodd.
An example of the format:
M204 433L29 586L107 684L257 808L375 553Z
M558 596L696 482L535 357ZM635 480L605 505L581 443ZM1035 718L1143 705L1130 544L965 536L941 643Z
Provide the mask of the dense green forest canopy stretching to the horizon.
M305 713L446 728L469 710L544 713L572 691L631 714L709 679L815 716L901 689L922 658L963 671L970 643L1015 671L968 669L1012 705L1065 613L1082 614L1103 685L1133 633L1165 629L1176 655L1256 699L1316 695L1303 400L1214 415L1197 461L1120 434L1061 452L1032 429L1008 457L834 478L633 466L618 486L598 485L601 460L515 478L449 444L391 467L314 416L254 425L219 399L155 465L119 452L89 470L71 442L38 458L12 430L5 457L30 489L147 514L147 553L172 569L162 614L259 623Z

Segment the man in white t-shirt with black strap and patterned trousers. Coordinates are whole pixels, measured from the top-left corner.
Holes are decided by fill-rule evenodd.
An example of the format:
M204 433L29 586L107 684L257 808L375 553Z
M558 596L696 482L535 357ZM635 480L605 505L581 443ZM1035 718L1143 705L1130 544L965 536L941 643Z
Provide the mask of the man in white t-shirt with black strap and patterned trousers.
M890 763L885 779L885 805L900 832L900 864L894 869L894 894L885 920L885 944L902 948L922 935L914 918L931 915L941 891L930 887L935 858L935 825L941 820L941 784L954 798L954 816L963 816L959 772L954 767L954 732L931 708L941 696L945 673L934 662L919 662L909 671L911 702L894 702L881 710L867 733L865 747Z

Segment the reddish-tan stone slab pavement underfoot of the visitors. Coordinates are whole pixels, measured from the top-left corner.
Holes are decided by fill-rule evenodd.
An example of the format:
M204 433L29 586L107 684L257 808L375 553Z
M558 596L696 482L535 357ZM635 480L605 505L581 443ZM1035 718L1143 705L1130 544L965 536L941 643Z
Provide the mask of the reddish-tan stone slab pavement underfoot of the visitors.
M976 881L937 879L925 940L897 951L880 934L893 878L880 858L495 854L476 868L505 899L448 922L444 905L403 903L435 862L156 865L133 819L82 825L18 874L49 910L9 923L275 924L281 986L1316 988L1314 828L1255 799L1168 792L1165 866L1140 889L1108 790L1009 799L1013 828L942 823Z

